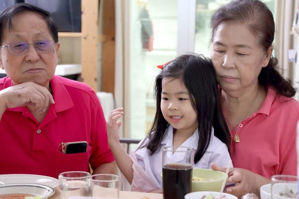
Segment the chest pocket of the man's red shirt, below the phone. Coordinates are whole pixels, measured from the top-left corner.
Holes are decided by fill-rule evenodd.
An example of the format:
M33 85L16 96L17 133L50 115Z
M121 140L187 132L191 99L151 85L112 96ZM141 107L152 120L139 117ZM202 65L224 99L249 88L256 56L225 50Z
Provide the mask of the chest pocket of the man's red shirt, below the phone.
M64 154L57 150L55 155L55 165L58 174L71 171L89 172L90 154L90 147L87 152L77 154Z

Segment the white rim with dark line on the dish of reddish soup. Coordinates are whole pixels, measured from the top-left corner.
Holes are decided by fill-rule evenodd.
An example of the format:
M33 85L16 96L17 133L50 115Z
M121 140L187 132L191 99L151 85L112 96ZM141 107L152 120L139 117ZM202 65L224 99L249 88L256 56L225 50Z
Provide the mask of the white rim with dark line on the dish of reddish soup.
M8 184L0 185L0 195L6 194L30 194L47 199L55 193L51 187L38 184Z

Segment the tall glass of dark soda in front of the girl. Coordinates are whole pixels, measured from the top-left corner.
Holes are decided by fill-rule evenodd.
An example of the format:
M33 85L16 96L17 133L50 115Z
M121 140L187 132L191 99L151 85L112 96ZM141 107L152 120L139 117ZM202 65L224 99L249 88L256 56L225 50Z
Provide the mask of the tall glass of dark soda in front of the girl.
M163 148L163 197L184 199L191 192L194 149L170 146Z

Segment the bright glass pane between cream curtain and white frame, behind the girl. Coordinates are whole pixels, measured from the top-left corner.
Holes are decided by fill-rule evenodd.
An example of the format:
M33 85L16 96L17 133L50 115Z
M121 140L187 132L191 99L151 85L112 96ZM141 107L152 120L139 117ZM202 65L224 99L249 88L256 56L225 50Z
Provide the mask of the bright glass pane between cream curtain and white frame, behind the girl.
M177 0L130 2L130 86L125 86L130 111L125 122L131 138L143 139L156 110L153 85L160 70L156 66L176 57Z

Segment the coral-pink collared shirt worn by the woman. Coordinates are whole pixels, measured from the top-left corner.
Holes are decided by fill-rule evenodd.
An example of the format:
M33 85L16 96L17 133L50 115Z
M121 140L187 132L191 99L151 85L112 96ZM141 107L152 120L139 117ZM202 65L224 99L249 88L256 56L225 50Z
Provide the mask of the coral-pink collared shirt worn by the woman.
M234 167L269 179L281 174L297 176L298 119L299 102L278 96L269 87L260 110L241 122L238 131L240 143L232 141ZM232 131L231 135L233 139L235 132Z

